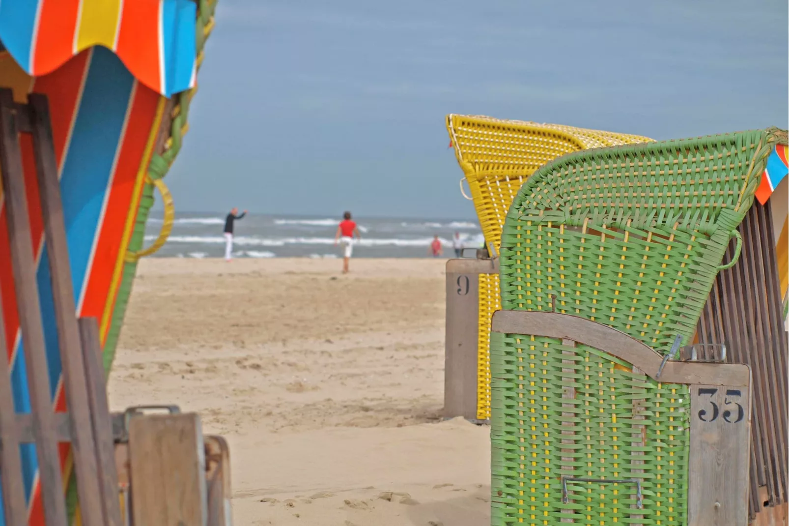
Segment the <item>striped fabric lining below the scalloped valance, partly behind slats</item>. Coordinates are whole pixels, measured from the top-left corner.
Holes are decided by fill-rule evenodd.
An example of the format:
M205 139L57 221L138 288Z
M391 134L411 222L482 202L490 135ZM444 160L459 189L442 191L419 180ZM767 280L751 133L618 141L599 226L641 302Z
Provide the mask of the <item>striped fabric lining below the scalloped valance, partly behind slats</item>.
M107 337L107 320L112 318L116 307L111 291L117 291L118 287L112 285L121 276L119 270L124 264L123 255L134 226L144 175L166 99L137 81L118 56L104 47L83 51L42 77L29 77L13 58L0 52L0 86L12 88L18 102L25 102L27 93L33 91L49 98L77 313L105 321L101 327L103 342ZM65 411L47 245L43 240L29 136L21 135L21 148L33 246L36 247L36 278L50 389L56 410ZM0 254L9 254L10 250L6 220L0 193ZM24 413L30 411L24 342L19 332L16 296L9 284L13 284L10 258L0 257L0 301L14 403L17 411ZM21 455L29 524L39 526L44 520L35 446L23 445ZM61 445L61 461L64 474L69 473L68 445ZM0 511L0 526L2 524Z

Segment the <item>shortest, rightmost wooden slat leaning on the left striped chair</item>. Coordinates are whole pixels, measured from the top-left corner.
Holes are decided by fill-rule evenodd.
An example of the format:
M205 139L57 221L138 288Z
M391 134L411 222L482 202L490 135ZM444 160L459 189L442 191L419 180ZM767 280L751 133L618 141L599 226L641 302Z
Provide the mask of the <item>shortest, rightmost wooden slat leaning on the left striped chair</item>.
M99 324L95 317L82 317L79 321L85 377L88 385L93 438L98 463L98 483L102 504L103 524L122 526L118 502L118 471L115 468L115 448L107 404L107 384L99 340Z

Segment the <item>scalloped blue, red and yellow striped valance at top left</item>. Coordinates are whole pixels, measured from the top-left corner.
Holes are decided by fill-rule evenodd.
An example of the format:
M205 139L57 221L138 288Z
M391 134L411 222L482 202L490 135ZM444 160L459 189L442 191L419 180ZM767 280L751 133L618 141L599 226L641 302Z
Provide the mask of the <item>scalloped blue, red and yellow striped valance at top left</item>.
M2 0L0 40L33 77L107 47L138 81L169 97L195 85L195 20L193 0Z

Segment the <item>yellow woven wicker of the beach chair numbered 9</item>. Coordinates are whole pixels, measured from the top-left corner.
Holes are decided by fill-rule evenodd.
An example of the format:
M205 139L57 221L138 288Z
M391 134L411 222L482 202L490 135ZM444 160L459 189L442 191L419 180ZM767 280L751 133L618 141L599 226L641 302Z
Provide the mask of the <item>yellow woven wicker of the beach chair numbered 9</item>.
M486 245L498 252L507 210L523 182L548 161L586 148L652 139L473 115L447 115L447 130L465 174ZM490 418L490 325L499 302L499 275L479 274L477 419Z

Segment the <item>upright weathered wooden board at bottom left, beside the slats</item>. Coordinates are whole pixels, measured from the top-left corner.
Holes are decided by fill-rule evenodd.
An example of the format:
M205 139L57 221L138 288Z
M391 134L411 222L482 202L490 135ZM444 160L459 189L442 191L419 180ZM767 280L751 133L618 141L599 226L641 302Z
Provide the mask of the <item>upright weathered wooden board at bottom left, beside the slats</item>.
M207 524L200 418L194 413L136 415L127 427L133 524Z

